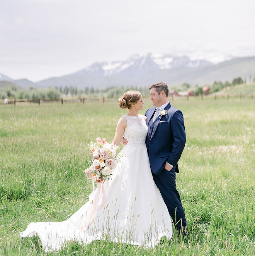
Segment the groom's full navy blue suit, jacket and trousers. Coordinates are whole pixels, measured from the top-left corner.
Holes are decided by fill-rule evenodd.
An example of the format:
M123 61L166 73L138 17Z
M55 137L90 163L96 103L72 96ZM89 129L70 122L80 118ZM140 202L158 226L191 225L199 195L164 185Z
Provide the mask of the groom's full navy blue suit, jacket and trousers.
M180 195L175 186L175 172L179 172L177 162L186 142L184 118L180 110L168 103L165 107L165 110L168 110L167 115L160 115L153 122L155 110L156 107L149 108L145 113L148 126L146 146L151 171L175 223L175 228L182 230L187 223ZM173 165L169 172L165 169L166 162Z

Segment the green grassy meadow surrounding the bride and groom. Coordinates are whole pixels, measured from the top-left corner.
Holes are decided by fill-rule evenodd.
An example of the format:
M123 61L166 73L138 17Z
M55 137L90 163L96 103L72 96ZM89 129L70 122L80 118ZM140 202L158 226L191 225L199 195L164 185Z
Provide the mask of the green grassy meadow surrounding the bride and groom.
M187 133L177 174L187 238L174 232L154 249L74 243L47 255L255 255L255 100L170 101ZM19 233L66 220L88 201L87 144L111 142L124 113L117 100L0 106L0 255L46 255L38 237Z

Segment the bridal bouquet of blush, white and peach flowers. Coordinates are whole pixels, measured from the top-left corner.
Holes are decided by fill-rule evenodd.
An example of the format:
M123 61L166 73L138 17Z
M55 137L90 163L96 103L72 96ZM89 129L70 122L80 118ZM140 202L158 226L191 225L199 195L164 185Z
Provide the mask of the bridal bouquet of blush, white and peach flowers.
M119 160L119 156L116 159L116 151L119 148L118 146L112 146L107 143L105 139L101 139L100 137L96 138L96 142L90 141L92 163L88 169L85 170L85 174L88 179L93 179L97 183L102 183L105 180L110 179L110 175L112 175L112 170L117 165L117 159Z

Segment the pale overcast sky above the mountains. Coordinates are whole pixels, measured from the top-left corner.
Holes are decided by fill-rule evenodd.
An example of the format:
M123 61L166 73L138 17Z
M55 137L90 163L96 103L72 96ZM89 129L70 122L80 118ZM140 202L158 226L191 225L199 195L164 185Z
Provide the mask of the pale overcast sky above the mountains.
M0 73L37 82L133 54L255 56L253 0L0 0Z

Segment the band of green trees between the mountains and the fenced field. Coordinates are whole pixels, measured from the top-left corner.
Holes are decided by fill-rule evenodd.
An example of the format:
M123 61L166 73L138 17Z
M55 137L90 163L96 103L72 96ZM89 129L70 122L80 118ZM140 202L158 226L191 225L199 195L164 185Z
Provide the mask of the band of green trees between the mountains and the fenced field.
M95 98L95 97L105 97L105 98L119 98L123 95L125 91L129 90L136 90L140 91L143 96L149 96L150 92L148 90L148 86L129 86L129 87L108 87L105 89L98 89L93 87L85 87L84 89L78 89L77 87L73 86L55 86L54 88L42 88L37 89L34 87L30 87L29 89L20 89L15 84L9 83L4 81L2 83L2 87L0 87L0 99L28 99L28 100L37 100L40 99L48 99L48 100L59 100L61 97L79 97L79 98ZM210 93L215 93L217 91L221 91L223 88L245 83L241 77L237 77L233 79L232 83L226 81L215 81L213 85L211 85ZM253 78L253 82L255 82L255 77ZM0 84L1 86L1 84ZM191 86L189 83L183 83L176 86L170 87L171 89L175 89L177 91L188 91L192 89L195 95L201 95L204 93L203 87L196 85Z

